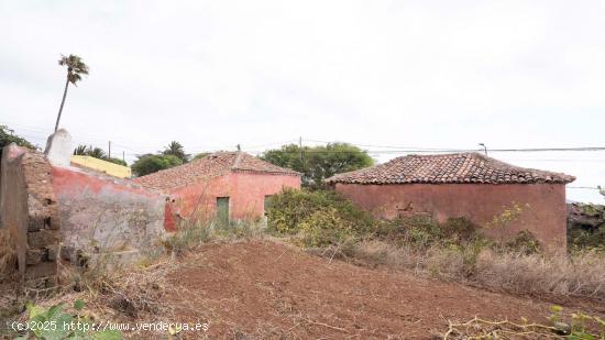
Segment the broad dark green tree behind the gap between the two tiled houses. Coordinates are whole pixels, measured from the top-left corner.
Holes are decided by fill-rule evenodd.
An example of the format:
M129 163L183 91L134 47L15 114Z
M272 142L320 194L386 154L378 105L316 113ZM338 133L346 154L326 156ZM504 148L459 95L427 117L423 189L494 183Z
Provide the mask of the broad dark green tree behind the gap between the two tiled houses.
M312 188L323 187L323 179L336 174L374 164L367 152L348 143L328 143L326 146L302 149L288 144L264 152L261 158L302 173L302 185Z

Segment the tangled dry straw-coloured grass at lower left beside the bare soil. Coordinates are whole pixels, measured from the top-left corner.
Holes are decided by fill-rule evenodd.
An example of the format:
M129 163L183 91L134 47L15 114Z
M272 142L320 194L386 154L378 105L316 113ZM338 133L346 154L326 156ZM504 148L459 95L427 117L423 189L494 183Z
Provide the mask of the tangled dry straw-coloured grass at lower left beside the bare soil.
M75 267L62 267L61 290L51 297L43 297L34 303L43 308L64 304L65 310L74 314L75 300L86 303L85 315L94 321L102 322L157 322L158 320L177 320L176 310L188 310L190 307L173 301L173 296L184 292L167 284L180 263L169 256L155 259L153 264L106 272L102 275L82 273ZM76 287L77 286L77 287ZM76 287L76 288L75 288ZM182 289L182 288L180 288ZM22 309L21 309L22 310ZM11 320L25 321L26 312L7 316ZM194 312L194 311L191 311ZM154 337L166 338L160 331L129 331L125 338L141 339ZM1 336L0 336L1 338Z

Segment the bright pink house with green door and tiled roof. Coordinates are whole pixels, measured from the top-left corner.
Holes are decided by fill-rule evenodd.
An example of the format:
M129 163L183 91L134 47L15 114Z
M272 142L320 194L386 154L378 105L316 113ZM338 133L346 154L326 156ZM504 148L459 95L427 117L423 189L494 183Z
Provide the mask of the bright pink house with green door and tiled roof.
M263 216L272 195L300 188L300 175L244 152L218 152L134 182L169 195L167 208L183 218L227 220Z

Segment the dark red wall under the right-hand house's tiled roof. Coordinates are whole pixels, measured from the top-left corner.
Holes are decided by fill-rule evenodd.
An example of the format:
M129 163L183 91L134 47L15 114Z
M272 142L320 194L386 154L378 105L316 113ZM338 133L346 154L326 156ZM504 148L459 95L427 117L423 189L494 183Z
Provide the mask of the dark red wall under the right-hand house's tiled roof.
M506 230L487 229L485 233L508 238L529 230L548 248L564 250L566 245L562 184L337 184L336 190L377 217L431 213L439 221L466 217L481 227L516 202L524 209L518 219Z

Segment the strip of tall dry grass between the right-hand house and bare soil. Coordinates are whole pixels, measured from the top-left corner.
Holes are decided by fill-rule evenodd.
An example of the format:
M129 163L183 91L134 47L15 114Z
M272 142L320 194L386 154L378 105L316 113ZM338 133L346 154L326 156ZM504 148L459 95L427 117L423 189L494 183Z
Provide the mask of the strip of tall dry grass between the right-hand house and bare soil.
M416 250L369 241L355 244L348 255L365 264L411 270L492 290L605 300L605 254L602 252L547 256L486 248L473 254L468 249Z

